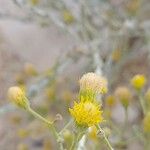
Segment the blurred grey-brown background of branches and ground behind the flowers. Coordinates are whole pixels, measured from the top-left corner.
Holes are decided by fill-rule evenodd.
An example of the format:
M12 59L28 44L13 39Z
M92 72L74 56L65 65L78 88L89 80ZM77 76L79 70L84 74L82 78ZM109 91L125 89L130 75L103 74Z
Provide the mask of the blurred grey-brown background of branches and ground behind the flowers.
M50 120L61 114L60 129L70 118L68 108L78 98L78 80L86 72L107 78L103 103L118 86L129 89L128 132L136 125L142 130L144 116L130 80L136 74L147 78L144 95L149 68L149 0L0 0L0 149L57 149L45 125L9 103L10 86L25 90L33 108ZM116 103L106 114L119 128L125 113ZM118 146L118 137L113 132L110 137L117 150L145 149L136 135L127 133L126 138L131 141Z

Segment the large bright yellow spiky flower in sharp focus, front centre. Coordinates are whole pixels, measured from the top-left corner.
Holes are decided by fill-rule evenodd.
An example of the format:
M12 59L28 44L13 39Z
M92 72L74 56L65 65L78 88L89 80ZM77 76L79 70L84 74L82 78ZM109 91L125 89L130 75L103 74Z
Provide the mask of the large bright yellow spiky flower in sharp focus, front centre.
M74 102L74 107L69 111L79 126L90 127L103 121L100 105L96 102Z

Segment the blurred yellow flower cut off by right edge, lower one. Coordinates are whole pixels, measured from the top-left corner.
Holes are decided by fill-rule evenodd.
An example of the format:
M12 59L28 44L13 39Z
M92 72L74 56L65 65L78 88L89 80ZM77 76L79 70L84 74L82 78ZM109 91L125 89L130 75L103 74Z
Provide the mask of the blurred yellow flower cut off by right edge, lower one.
M144 117L143 129L145 133L150 133L150 112L148 112Z

